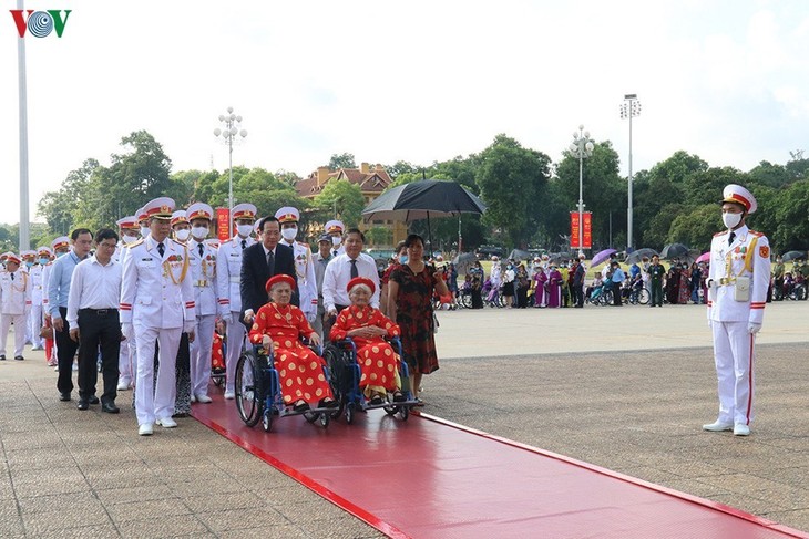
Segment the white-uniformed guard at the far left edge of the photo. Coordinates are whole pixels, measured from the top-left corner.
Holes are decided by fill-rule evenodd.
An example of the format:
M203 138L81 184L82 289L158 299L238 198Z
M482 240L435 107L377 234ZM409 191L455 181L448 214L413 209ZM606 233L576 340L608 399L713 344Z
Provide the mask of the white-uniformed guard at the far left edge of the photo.
M6 253L6 271L0 272L0 361L6 360L6 342L14 324L14 360L22 361L25 322L31 310L31 280L20 269L20 257Z

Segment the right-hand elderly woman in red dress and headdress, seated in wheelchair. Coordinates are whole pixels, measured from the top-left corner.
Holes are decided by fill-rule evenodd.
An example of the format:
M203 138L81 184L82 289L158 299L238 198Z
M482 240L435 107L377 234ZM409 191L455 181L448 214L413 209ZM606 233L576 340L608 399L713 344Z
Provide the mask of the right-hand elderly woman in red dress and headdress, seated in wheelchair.
M399 376L399 359L387 339L399 336L399 325L370 305L373 281L363 277L351 279L347 286L351 305L340 311L329 338L334 342L349 339L357 349L360 366L359 387L371 405L381 405L392 394L396 403L404 402Z

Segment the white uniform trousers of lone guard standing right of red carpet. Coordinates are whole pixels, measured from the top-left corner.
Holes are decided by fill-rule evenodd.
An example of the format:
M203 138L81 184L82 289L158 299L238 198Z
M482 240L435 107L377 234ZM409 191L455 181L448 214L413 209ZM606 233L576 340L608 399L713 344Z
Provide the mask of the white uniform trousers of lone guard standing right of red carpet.
M752 422L756 335L747 322L713 322L714 360L719 382L719 423L749 425Z

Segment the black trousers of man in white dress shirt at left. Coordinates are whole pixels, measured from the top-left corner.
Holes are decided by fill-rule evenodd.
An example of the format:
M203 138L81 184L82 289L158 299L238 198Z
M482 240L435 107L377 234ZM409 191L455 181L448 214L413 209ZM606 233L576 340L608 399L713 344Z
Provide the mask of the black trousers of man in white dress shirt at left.
M101 402L113 403L117 396L117 361L121 351L121 324L117 309L79 310L79 398L88 400L95 394L99 380L96 369L101 351L101 375L104 393ZM60 364L59 374L62 374Z

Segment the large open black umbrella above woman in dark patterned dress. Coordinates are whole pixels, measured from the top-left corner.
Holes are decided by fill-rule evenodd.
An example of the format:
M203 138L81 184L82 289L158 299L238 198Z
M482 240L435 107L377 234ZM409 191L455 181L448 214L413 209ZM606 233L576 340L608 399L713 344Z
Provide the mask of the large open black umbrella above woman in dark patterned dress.
M428 234L431 236L430 217L452 217L483 211L485 205L461 184L422 179L382 193L362 210L362 217L366 222L375 219L399 219L406 222L427 219Z

